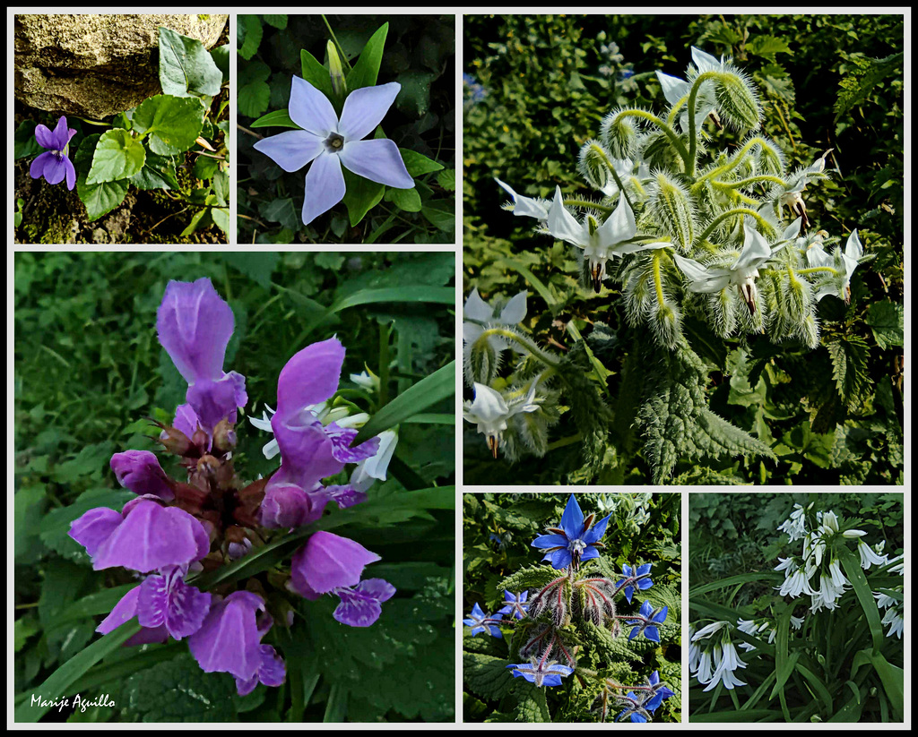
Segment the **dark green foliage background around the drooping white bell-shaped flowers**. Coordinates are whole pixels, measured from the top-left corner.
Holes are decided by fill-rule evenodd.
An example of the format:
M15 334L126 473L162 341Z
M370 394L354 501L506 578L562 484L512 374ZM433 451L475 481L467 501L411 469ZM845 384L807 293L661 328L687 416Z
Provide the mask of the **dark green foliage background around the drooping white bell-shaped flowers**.
M802 545L800 540L789 543L788 535L778 532L778 524L789 518L795 503L806 507L811 502L814 503L814 510L831 511L839 519L855 520L856 523L851 526L867 532L865 539L870 543L885 540L883 552L890 558L902 554L905 512L901 494L692 493L689 494L689 622L712 616L710 611L699 611L691 605L691 600L696 598L696 591L709 584L740 576L751 580L735 581L731 585L711 590L702 589L704 593L698 599L705 606L711 603L722 606L726 608L725 611L734 612L747 620L769 616L774 619L773 614L782 610L783 601L791 600L780 597L774 588L779 585L783 575L775 580L766 577L778 565L778 556L785 557L791 550L796 555ZM756 572L761 572L762 578L756 579ZM902 579L893 576L890 580L901 583ZM850 594L849 599L853 599ZM799 604L793 609L798 616L802 616L809 607L810 599L804 596L796 601ZM864 647L869 641L863 612L856 600L851 601L850 606L842 605L835 611L823 611L810 616L818 616L831 624L829 633L826 633L828 637L831 638L832 633L837 635L832 652L821 652L816 657L818 667L814 671L829 698L813 698L814 692L807 690L809 686L801 687L800 675L793 674L782 694L791 715L800 717L797 719L800 721L810 720L814 713L821 714L816 720L889 720L889 714L883 710L886 709L885 705L882 708L879 705L877 697L882 686L876 676L864 685L872 669L853 667L856 649ZM885 631L887 628L883 629ZM734 639L734 642L738 641ZM808 645L812 646L800 643L798 637L793 647L802 651ZM903 640L884 637L883 655L891 665L901 668ZM801 663L804 658L805 655L800 656ZM690 678L689 709L692 720L726 720L727 717L719 717L724 714L729 714L729 719L735 721L781 719L781 709L778 708L771 687L764 694L756 690L767 674L772 672L772 658L766 659L758 654L744 660L748 666L739 675L748 685L734 689L733 693L724 692L722 688L704 693L697 680ZM856 678L856 690L859 688L869 698L858 697L857 703L852 705L850 688L855 687L854 674L858 670L860 677ZM768 692L771 692L771 697L761 698L768 697ZM754 693L760 698L757 708L756 704L746 706L745 716L734 711L739 709L739 705L745 705ZM856 713L854 719L846 713L851 710Z

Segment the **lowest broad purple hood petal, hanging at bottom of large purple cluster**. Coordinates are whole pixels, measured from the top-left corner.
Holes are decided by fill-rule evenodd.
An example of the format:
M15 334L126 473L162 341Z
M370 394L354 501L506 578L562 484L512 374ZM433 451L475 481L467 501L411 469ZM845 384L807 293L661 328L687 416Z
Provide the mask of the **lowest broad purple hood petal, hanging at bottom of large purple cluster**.
M201 670L231 673L245 681L258 674L262 654L255 612L259 607L263 607L261 598L248 591L236 591L211 607L204 624L188 638L188 649Z

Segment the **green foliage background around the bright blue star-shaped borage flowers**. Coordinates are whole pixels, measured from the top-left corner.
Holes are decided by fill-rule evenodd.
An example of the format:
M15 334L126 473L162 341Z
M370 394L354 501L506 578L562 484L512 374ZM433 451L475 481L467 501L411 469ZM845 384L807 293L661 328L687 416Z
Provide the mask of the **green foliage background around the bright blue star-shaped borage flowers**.
M601 542L600 551L609 567L621 571L630 566L653 564L654 586L635 595L633 604L619 597L616 606L621 613L633 613L640 600L651 600L654 606L667 605L666 622L661 627L662 644L644 638L627 642L627 633L614 640L613 665L620 668L616 677L623 683L639 683L644 676L659 670L676 691L655 712L655 721L678 721L681 709L681 607L682 554L679 540L679 497L677 494L655 494L645 503L646 522L637 524L633 510L640 505L636 496L627 493L578 493L577 502L584 514L596 512L604 517L610 512L603 506L611 498L618 500ZM532 547L532 540L543 534L547 525L557 525L564 513L568 495L548 493L477 493L463 497L463 612L472 611L478 603L491 614L504 604L500 582L524 568L541 565L543 552ZM547 564L545 564L547 565ZM519 593L519 592L516 592ZM530 590L532 599L533 591ZM509 616L505 616L509 619ZM570 676L561 687L537 688L522 678L513 678L507 669L509 628L504 639L485 633L463 638L463 718L465 721L594 721L589 712L595 691L581 687ZM583 645L579 654L584 665L595 668L610 664L610 654L600 655L594 644ZM599 661L596 660L599 658ZM512 661L517 662L517 661ZM631 669L629 670L629 665ZM589 686L589 684L588 684Z

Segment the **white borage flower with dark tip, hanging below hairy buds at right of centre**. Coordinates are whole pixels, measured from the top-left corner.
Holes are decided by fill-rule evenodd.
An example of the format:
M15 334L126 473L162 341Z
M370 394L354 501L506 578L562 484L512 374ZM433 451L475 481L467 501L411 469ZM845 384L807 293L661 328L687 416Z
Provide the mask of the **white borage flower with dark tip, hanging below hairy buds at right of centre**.
M675 254L675 258L679 270L689 279L689 292L713 294L735 286L749 312L756 314L756 279L759 267L787 246L791 239L797 237L794 229L797 228L799 232L800 221L789 225L774 248L770 247L765 237L756 230L756 221L751 217L746 216L744 227L743 250L729 266L706 266L678 254Z

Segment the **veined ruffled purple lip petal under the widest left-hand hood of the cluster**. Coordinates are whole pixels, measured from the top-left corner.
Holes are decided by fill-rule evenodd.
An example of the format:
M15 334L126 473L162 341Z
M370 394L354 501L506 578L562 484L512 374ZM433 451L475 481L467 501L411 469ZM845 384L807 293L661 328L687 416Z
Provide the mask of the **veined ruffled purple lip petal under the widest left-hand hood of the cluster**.
M188 586L184 570L174 568L162 576L150 576L140 584L137 619L144 627L160 627L176 640L201 629L210 611L210 594Z

